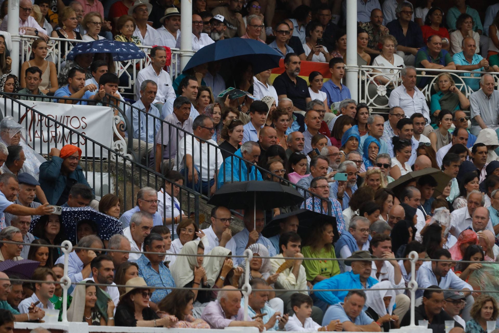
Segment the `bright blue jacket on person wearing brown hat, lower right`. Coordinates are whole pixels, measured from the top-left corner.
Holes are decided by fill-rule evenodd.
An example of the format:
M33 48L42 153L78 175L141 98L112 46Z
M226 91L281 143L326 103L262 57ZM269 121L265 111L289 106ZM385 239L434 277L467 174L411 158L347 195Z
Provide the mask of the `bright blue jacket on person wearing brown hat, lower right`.
M369 277L366 281L366 289L371 288L379 281ZM322 280L321 282L317 282L313 286L314 295L327 304L333 305L340 302L343 302L348 291L342 292L316 292L316 290L320 289L364 289L364 286L360 283L360 276L358 274L353 274L352 272L345 272L329 279Z

